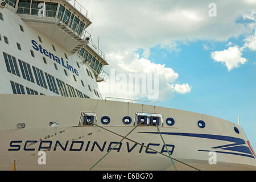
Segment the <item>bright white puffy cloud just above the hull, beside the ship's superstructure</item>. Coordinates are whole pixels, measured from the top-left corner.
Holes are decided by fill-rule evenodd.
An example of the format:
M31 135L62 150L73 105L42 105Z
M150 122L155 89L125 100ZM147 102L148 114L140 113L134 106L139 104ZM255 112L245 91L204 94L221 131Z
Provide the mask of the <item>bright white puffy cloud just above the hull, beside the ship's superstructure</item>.
M153 63L139 58L136 53L129 52L111 53L110 57L112 57L110 63L115 62L115 64L108 71L109 79L100 84L104 97L164 101L174 97L174 93L185 94L191 91L192 87L188 84L176 84L179 74L164 64ZM131 81L130 78L133 76L146 78L146 81L135 82L136 79Z

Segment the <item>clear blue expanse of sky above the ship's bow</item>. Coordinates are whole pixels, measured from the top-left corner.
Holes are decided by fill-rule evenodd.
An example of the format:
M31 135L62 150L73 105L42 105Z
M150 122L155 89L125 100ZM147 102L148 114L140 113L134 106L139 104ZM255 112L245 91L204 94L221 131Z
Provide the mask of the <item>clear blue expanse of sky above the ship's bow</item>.
M242 45L241 40L212 44L214 49L222 50L230 41ZM149 60L175 69L180 75L179 81L192 86L190 93L177 93L170 100L160 101L160 105L213 115L234 123L238 123L240 115L241 126L256 148L256 52L245 51L243 57L248 59L247 63L228 72L224 64L210 57L212 51L205 50L204 44L205 41L200 40L180 43L180 51L171 53L160 46L150 49Z

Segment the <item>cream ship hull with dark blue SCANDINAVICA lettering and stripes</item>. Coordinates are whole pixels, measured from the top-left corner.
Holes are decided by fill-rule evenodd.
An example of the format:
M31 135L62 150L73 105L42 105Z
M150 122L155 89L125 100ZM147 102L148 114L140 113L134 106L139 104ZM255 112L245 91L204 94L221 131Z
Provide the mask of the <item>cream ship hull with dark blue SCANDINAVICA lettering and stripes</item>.
M175 118L174 126L164 123L159 130L177 170L256 170L256 159L253 152L249 152L250 146L242 128L208 115L125 102L52 96L2 94L0 100L1 170L13 170L14 161L16 170L88 170L136 127L134 117L137 112ZM96 113L97 126L79 127L82 112ZM105 115L111 118L108 126L100 122ZM127 115L133 122L126 126L122 119ZM205 121L204 129L197 126L200 119ZM59 126L50 127L49 122L53 121ZM26 127L17 129L18 123L25 123ZM235 133L234 126L240 134ZM57 141L65 150L55 147ZM121 143L93 170L174 169L168 153L163 150L164 143L156 126L138 126ZM46 165L38 164L39 150L46 151ZM208 151L216 151L217 164L209 164Z

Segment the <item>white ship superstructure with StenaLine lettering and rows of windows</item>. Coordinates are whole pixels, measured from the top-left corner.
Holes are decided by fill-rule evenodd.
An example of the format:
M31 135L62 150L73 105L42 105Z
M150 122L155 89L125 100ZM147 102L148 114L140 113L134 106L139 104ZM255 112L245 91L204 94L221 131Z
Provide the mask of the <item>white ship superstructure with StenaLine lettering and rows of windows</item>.
M1 93L102 98L108 63L85 30L91 23L76 1L2 1L0 83L10 86Z

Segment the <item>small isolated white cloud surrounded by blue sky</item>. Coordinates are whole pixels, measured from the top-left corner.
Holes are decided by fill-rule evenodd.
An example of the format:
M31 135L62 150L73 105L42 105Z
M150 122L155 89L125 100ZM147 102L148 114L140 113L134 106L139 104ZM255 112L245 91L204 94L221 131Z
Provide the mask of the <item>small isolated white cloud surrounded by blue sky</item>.
M247 61L242 57L241 49L238 46L229 47L224 51L211 52L210 56L217 62L225 63L228 71L238 68L240 64L245 64Z

